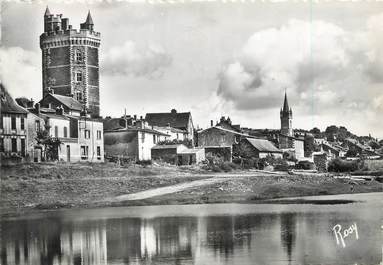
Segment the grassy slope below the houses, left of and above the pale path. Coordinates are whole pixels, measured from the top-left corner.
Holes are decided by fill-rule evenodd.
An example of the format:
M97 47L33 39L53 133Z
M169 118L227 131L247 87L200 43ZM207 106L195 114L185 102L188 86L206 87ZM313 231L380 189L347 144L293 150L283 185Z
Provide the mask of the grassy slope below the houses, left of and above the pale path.
M2 167L0 211L97 206L105 198L207 178L196 173L194 168L113 163Z

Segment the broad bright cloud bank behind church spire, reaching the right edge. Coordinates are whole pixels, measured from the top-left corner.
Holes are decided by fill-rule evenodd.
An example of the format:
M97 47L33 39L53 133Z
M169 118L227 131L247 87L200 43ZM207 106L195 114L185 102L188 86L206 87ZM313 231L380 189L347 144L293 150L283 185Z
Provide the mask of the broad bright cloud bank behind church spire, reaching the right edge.
M382 135L382 21L383 14L372 16L363 30L347 31L293 19L255 32L223 65L216 94L234 111L264 112L281 107L287 88L301 117L353 121L357 131L370 127Z

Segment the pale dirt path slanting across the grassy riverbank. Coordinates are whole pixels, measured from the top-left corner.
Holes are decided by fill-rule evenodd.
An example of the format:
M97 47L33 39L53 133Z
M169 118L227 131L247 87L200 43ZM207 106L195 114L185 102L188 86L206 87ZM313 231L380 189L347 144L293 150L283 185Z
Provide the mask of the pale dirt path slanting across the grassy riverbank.
M126 194L126 195L120 195L115 198L112 198L111 200L112 201L143 200L143 199L175 193L175 192L179 192L179 191L183 191L186 189L195 188L199 186L206 186L206 185L211 185L214 183L225 182L230 180L231 178L232 176L225 175L225 176L212 177L208 179L195 180L195 181L191 181L187 183L180 183L180 184L176 184L172 186L155 188L155 189L140 191L136 193Z

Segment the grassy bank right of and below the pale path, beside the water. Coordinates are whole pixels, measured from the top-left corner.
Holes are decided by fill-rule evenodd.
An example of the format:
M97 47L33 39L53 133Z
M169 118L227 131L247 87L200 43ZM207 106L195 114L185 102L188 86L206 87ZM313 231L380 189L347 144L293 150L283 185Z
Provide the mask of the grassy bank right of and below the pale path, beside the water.
M150 204L265 203L269 199L382 192L383 184L372 179L353 181L330 175L264 175L232 179L224 183L185 190L137 202Z

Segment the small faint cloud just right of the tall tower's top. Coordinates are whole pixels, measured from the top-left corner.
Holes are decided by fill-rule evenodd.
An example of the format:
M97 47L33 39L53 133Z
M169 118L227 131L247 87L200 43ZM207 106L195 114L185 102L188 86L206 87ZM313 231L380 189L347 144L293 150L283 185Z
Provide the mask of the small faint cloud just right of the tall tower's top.
M159 78L171 63L172 57L161 46L138 47L135 42L126 41L102 56L101 67L103 73L110 75Z

